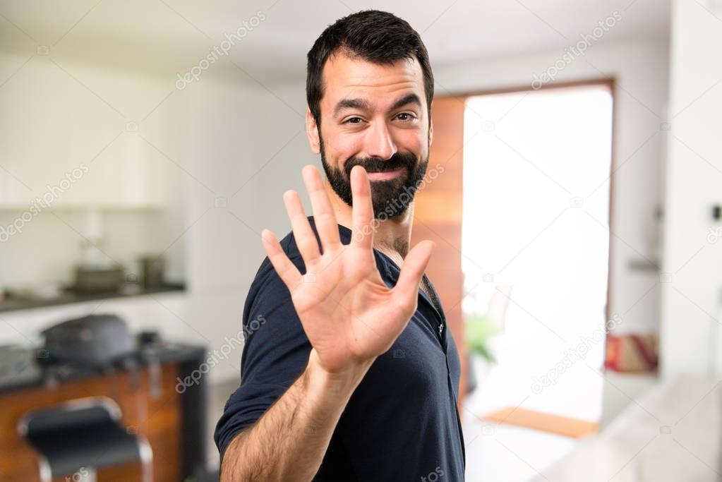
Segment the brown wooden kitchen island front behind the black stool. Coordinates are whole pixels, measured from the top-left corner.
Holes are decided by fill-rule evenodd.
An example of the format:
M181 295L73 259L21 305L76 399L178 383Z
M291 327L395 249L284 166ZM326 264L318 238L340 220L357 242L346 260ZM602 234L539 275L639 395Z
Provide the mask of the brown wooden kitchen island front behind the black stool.
M205 462L204 378L179 385L178 380L198 370L205 359L201 347L173 346L157 352L160 365L144 365L138 372L78 374L74 380L38 380L0 384L0 480L40 481L35 450L17 430L25 413L58 403L103 395L118 403L122 424L131 433L144 435L153 451L157 482L178 482L191 476ZM157 367L160 367L160 374ZM65 481L64 477L55 481ZM99 482L141 480L141 465L129 464L97 471Z

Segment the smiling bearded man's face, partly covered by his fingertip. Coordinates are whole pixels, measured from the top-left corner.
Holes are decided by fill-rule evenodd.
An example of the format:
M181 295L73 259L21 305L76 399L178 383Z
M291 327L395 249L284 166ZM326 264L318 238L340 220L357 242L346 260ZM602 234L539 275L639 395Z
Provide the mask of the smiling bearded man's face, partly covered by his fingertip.
M362 165L375 217L400 216L429 159L421 66L415 58L379 66L339 54L326 62L323 86L318 151L331 188L352 206L351 168Z

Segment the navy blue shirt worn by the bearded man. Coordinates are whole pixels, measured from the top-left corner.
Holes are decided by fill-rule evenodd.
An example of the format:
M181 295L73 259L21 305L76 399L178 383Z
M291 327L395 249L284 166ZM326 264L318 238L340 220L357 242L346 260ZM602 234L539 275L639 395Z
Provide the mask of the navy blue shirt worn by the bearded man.
M313 216L308 220L318 240ZM351 229L339 224L339 235L344 245L351 242ZM292 233L281 246L305 273ZM380 251L373 253L384 283L395 286L399 266ZM457 409L461 367L439 308L419 289L417 311L352 394L314 481L464 480ZM214 433L221 457L235 434L256 422L308 363L311 345L268 258L245 300L243 330L240 387L230 395Z

